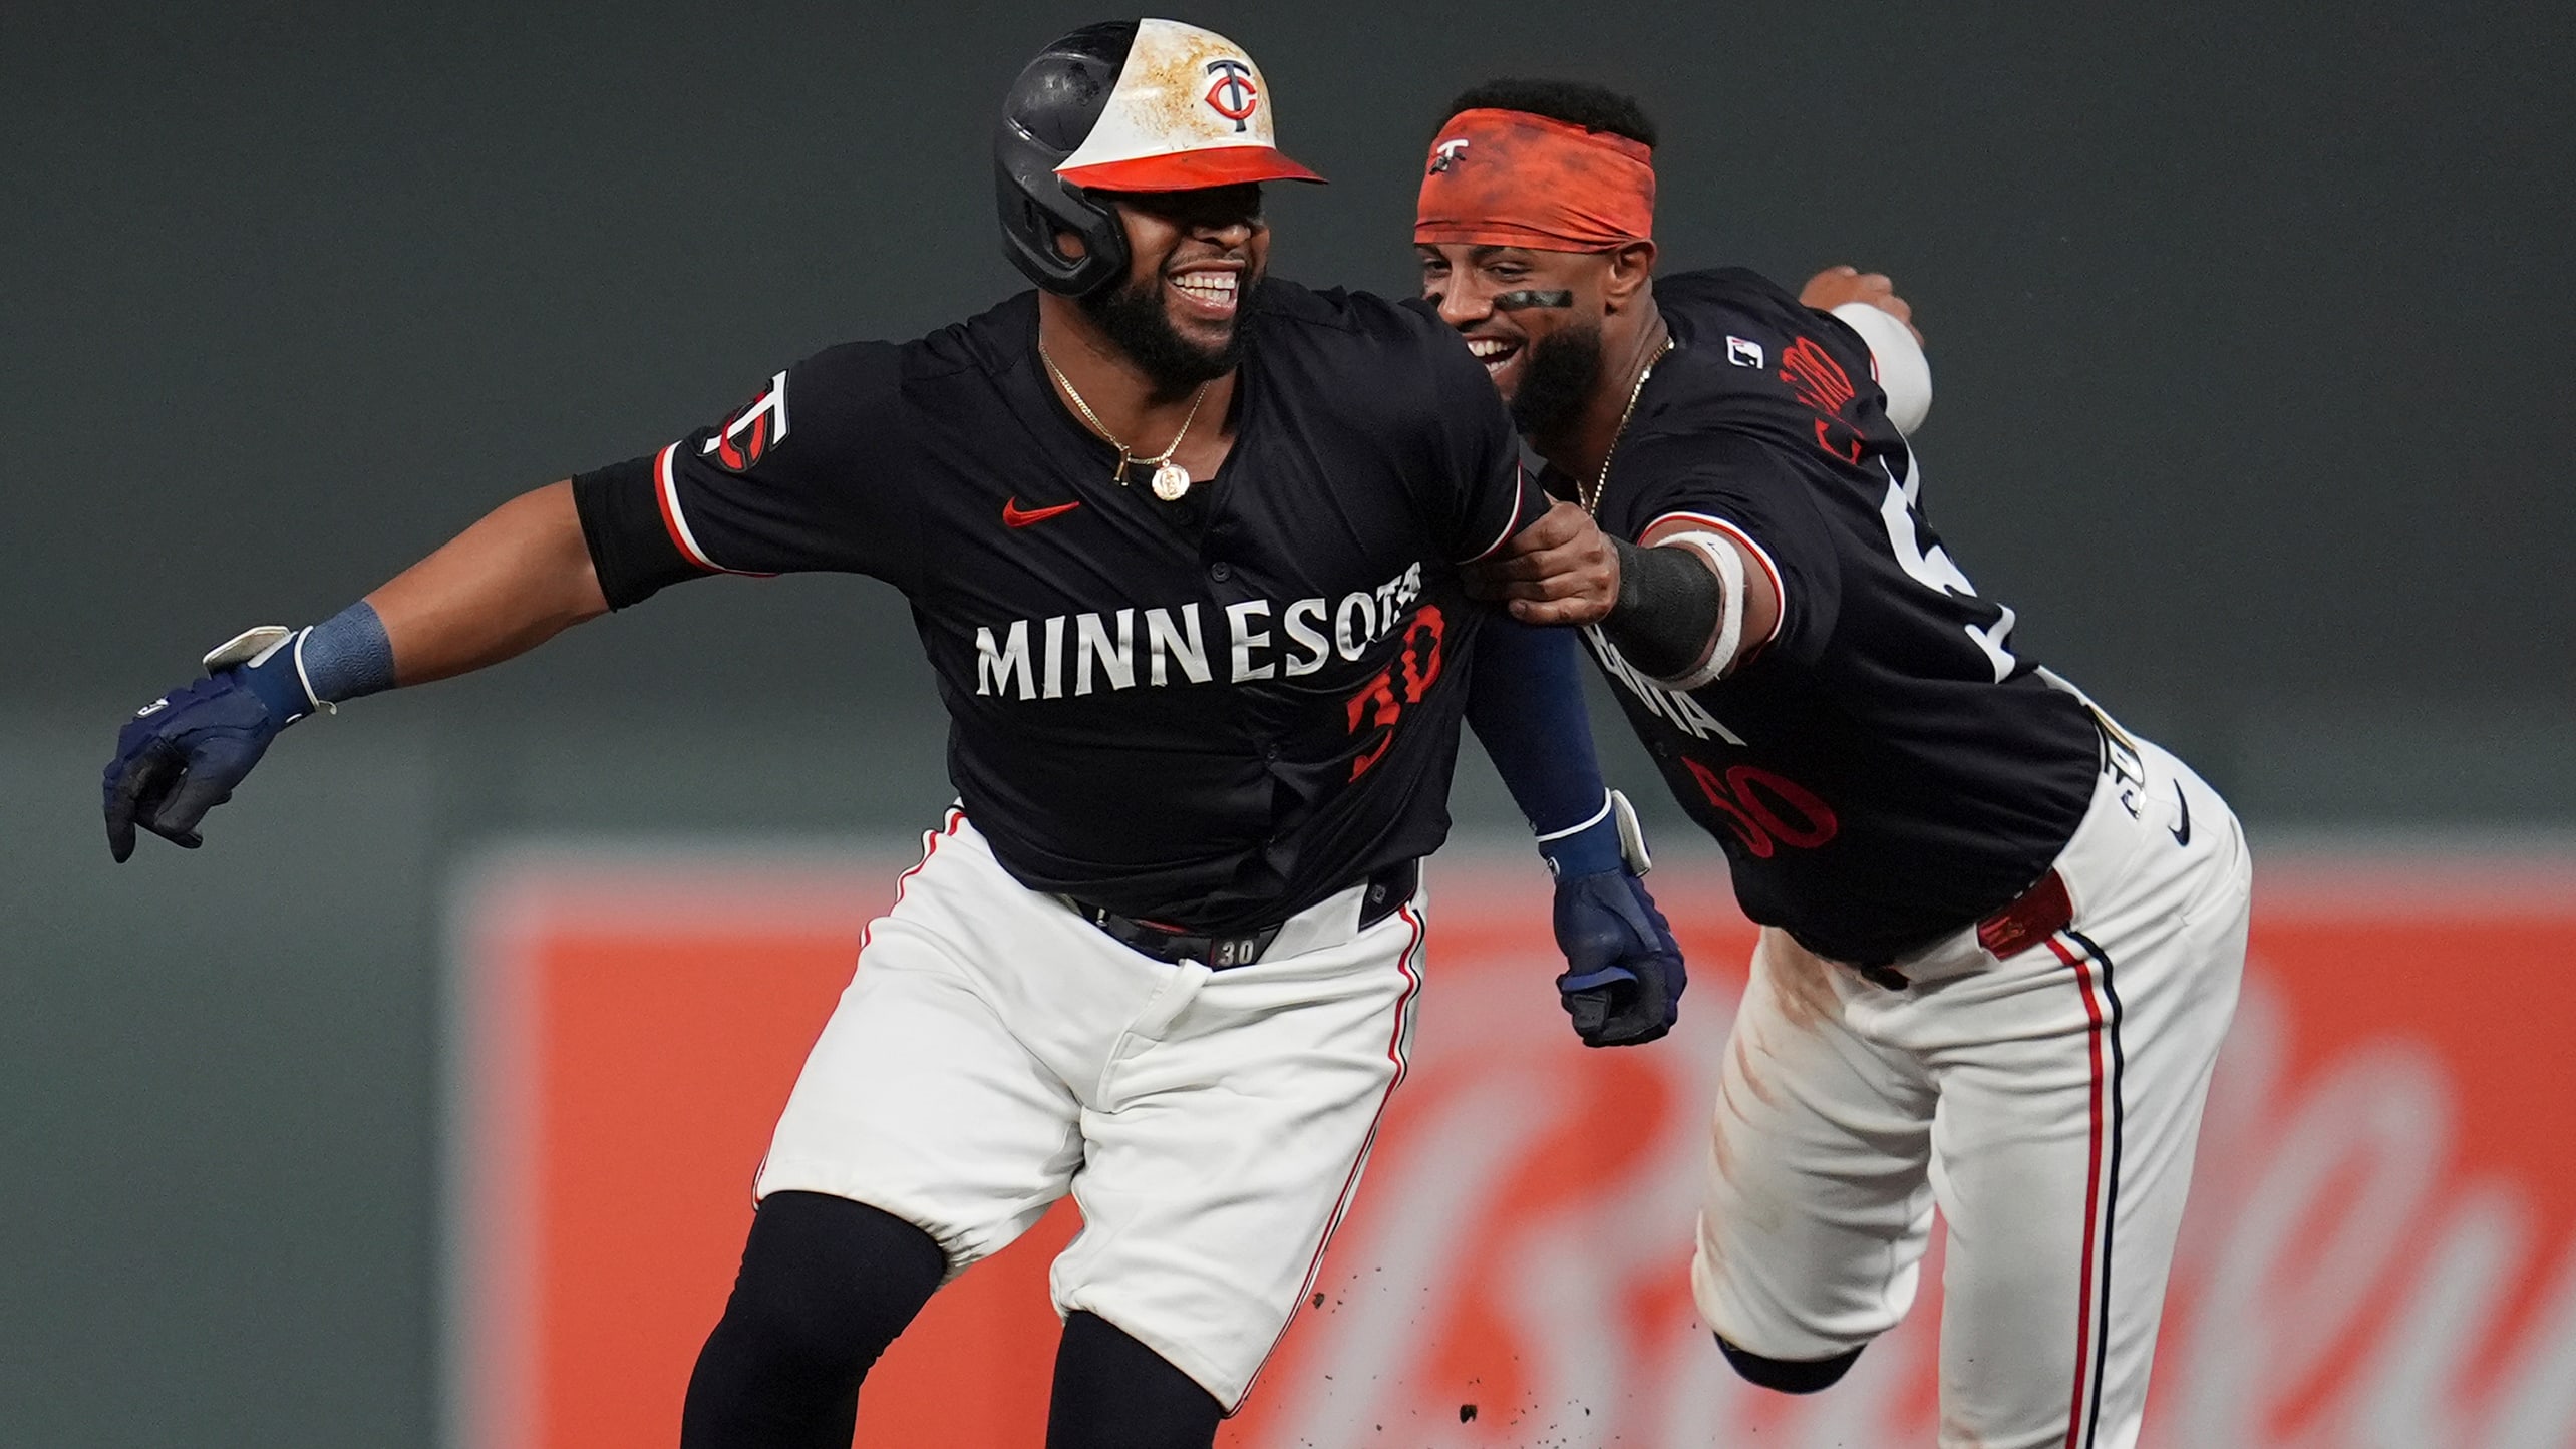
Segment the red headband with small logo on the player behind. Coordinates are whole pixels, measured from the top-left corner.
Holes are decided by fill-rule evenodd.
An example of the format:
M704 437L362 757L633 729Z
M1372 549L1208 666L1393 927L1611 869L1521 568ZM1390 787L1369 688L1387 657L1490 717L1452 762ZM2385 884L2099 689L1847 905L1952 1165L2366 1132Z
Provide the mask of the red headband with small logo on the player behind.
M1528 111L1461 111L1432 142L1414 242L1607 252L1654 237L1654 152Z

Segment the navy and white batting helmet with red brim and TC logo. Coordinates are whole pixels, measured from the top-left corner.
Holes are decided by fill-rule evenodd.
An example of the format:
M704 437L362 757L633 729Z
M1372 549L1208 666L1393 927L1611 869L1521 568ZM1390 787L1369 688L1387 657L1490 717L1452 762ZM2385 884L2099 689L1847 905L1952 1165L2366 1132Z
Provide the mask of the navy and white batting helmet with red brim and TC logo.
M1087 296L1126 275L1126 229L1103 190L1324 180L1278 152L1252 57L1180 21L1082 26L1028 62L992 139L1002 255L1028 281ZM1082 239L1082 255L1056 234Z

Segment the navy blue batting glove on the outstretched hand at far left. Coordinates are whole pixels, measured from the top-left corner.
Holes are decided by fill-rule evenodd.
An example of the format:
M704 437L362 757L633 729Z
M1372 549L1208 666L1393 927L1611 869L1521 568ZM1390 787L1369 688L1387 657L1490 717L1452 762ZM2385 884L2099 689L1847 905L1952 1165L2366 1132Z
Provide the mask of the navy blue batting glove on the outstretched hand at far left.
M296 674L294 636L268 625L206 656L211 674L134 710L103 780L108 854L134 857L134 826L196 849L206 811L268 754L278 731L314 710Z

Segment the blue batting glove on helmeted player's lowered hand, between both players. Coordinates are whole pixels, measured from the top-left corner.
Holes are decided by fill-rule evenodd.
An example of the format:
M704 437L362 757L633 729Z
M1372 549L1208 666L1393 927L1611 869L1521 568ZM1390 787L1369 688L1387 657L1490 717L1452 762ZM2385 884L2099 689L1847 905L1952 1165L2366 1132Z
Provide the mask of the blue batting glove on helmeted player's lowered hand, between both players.
M1669 1032L1690 973L1638 880L1654 862L1628 798L1610 790L1602 818L1540 842L1538 854L1556 875L1556 950L1566 957L1556 993L1574 1035L1587 1048L1628 1048Z

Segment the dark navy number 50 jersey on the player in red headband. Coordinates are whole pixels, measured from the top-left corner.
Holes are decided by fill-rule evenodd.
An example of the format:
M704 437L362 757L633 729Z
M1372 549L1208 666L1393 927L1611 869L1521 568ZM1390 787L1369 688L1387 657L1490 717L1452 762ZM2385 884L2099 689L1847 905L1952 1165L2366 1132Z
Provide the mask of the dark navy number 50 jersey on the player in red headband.
M1680 695L1592 651L1736 898L1811 950L1886 963L2027 891L2092 800L2099 734L1924 522L1868 345L1749 270L1656 278L1677 347L1610 463L1600 522L1747 543L1780 628Z

